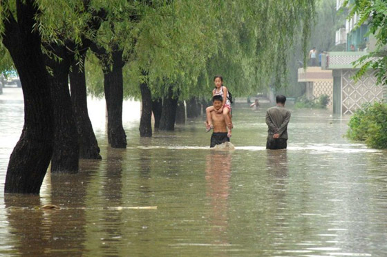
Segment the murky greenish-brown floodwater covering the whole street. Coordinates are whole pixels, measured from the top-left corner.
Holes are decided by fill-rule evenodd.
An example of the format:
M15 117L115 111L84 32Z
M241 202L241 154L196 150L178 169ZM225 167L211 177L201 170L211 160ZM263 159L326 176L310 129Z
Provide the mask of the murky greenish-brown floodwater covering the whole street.
M111 149L93 99L102 160L47 173L39 196L4 195L20 91L0 95L0 256L386 256L387 152L343 138L347 116L293 109L288 149L267 151L270 105L240 104L223 152L202 118L140 138L140 104L125 102L128 148Z

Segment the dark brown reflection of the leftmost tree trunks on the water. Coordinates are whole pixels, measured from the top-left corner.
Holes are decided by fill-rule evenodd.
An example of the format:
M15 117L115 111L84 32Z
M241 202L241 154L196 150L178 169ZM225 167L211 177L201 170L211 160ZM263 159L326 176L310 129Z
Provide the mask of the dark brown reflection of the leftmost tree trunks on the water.
M5 194L6 218L15 236L10 245L25 256L83 256L87 187L99 163L82 160L76 175L48 173L48 195L42 197ZM60 209L42 209L44 204Z

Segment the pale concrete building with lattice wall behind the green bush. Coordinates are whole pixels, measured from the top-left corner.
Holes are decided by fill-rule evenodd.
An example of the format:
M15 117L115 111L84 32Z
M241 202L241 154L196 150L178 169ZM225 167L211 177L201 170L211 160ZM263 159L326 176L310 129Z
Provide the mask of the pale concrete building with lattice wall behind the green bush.
M337 0L337 10L342 8L343 2L343 0ZM299 70L299 81L304 80L309 83L307 84L307 96L308 94L311 95L311 93L308 93L308 88L312 88L309 91L319 92L317 90L319 86L315 82L322 70L332 72L330 73L332 75L332 99L330 104L333 113L337 114L352 114L361 108L363 104L380 102L384 97L387 97L387 87L377 85L374 70L368 70L366 75L357 81L353 78L360 67L355 66L354 62L367 55L368 51L375 49L375 38L372 35L366 35L368 25L364 24L356 27L357 21L359 21L359 17L355 15L352 19L346 21L345 30L340 28L336 32L336 44L345 44L346 52L328 52L322 55L321 71L314 71L316 67L310 67L305 71L305 75L302 75ZM327 89L325 92L330 91ZM312 95L317 95L317 93L312 93Z

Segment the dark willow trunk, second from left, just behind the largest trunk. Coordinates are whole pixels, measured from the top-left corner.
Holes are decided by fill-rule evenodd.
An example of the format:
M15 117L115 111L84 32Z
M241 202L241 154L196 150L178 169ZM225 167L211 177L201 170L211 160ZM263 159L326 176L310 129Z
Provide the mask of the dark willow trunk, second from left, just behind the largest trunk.
M51 48L54 48L56 55L62 57L62 61L59 62L46 56L46 65L53 70L53 75L48 77L54 104L54 149L51 158L51 172L77 173L79 145L68 89L70 57L64 46L51 45Z

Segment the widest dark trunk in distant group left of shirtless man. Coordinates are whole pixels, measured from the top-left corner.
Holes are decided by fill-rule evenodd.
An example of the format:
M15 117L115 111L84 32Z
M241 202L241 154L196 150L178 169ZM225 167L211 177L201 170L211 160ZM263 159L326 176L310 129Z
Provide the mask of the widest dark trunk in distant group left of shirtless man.
M168 88L168 95L162 99L162 113L160 131L174 131L178 97L173 95L172 88Z

